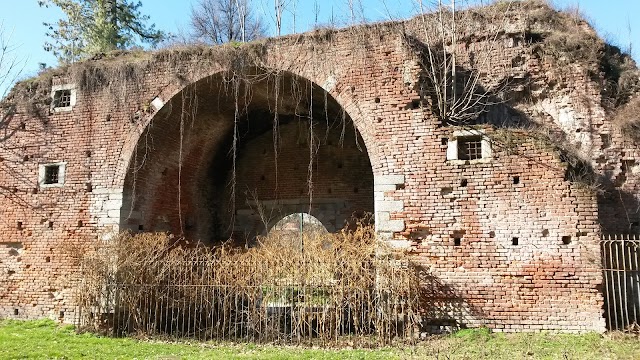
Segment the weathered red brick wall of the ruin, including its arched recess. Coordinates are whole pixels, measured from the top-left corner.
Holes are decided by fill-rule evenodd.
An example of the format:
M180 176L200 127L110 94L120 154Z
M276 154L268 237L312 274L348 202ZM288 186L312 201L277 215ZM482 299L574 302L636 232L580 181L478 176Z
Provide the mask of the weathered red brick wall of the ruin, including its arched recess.
M601 228L637 220L568 176L558 144L504 128L518 118L565 134L631 209L639 154L607 122L599 84L537 56L514 25L458 51L463 64L488 51L487 87L528 85L487 115L498 121L446 125L421 93L419 29L125 54L18 85L0 150L0 317L68 320L76 255L113 231L242 241L295 212L330 230L373 212L381 238L430 274L425 325L603 331ZM64 84L75 105L50 111ZM64 184L39 184L40 166L59 162Z

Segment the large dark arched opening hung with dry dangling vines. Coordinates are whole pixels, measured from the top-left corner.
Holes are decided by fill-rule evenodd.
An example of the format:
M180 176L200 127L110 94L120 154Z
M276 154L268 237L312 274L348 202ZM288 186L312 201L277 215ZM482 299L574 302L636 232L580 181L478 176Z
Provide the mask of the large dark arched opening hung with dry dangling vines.
M334 232L373 206L364 141L330 94L291 73L220 73L174 96L140 136L120 223L240 244L287 214Z

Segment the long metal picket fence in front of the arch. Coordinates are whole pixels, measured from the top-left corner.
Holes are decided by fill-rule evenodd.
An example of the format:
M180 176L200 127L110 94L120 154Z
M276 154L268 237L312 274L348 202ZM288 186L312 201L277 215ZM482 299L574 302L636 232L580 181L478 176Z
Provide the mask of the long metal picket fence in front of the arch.
M110 336L278 344L358 341L358 346L379 346L416 337L415 299L410 297L417 294L385 286L403 285L401 277L395 279L395 271L389 271L406 271L402 266L392 265L382 276L371 263L363 263L369 267L364 271L375 278L374 286L363 288L341 281L339 274L309 281L276 276L248 284L239 272L234 284L216 277L214 269L223 265L217 261L164 264L163 269L173 269L172 273L152 283L124 281L126 276L117 271L104 277L103 283L94 277L81 287L85 293L79 296L78 326ZM268 273L265 264L248 265L245 274ZM299 264L292 270L304 272L305 266L317 264Z

